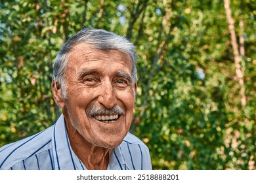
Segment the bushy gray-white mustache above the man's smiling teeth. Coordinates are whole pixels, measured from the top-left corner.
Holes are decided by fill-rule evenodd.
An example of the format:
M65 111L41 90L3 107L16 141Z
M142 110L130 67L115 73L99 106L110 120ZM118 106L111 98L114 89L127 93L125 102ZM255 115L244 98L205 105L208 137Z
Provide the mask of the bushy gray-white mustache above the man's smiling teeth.
M87 111L87 116L89 117L98 116L98 115L110 116L110 115L116 115L116 114L121 115L121 114L125 114L125 112L118 105L115 105L112 108L106 108L100 105L100 106L92 107Z

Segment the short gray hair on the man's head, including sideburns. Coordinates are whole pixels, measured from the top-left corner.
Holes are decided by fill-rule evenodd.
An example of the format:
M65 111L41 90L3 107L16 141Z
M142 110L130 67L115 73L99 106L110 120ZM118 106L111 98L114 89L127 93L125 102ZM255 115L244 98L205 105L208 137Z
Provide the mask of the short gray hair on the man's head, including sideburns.
M132 61L131 77L133 82L137 81L137 69L136 59L137 54L135 52L135 46L119 35L115 33L105 31L102 29L81 29L75 33L68 41L66 41L60 51L58 52L54 64L53 64L53 81L58 82L62 89L62 96L68 97L66 93L66 67L68 63L68 54L74 48L75 45L85 42L93 45L96 50L118 50L128 56Z

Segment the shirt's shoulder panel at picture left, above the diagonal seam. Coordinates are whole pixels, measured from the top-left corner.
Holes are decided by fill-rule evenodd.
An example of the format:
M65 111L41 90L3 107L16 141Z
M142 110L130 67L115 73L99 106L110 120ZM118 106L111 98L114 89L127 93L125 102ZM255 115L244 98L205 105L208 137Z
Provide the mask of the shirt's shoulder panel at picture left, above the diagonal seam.
M12 165L52 148L53 126L20 141L0 148L0 169L10 169Z

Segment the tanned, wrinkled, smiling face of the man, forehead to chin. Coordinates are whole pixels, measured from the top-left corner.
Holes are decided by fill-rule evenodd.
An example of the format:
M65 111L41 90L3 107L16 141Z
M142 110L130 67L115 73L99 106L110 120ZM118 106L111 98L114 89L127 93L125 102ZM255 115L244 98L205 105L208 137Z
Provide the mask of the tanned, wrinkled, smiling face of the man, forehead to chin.
M104 52L89 46L80 43L70 52L66 69L68 99L64 99L62 110L66 122L85 141L114 148L127 135L133 116L136 83L131 79L131 59L117 50Z

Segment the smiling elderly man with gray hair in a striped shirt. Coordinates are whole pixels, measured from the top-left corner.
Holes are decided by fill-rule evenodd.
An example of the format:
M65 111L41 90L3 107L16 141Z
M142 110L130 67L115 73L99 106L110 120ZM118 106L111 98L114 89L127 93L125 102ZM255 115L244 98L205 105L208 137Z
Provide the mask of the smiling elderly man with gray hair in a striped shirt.
M0 148L0 169L151 169L148 148L128 133L137 90L135 46L82 29L54 61L53 126Z

